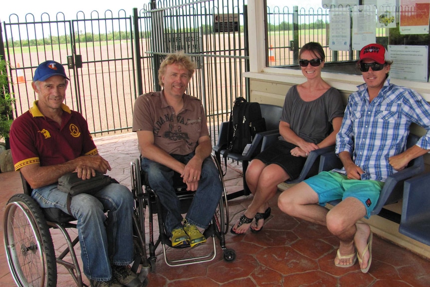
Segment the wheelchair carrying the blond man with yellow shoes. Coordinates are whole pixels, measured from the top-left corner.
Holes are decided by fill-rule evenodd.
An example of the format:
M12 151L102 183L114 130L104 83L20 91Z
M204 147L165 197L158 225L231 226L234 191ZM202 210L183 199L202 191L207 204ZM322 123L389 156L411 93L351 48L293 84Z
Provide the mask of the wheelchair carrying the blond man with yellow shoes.
M232 249L227 249L225 247L225 237L224 235L228 231L228 206L227 206L227 195L225 192L224 181L222 178L222 169L219 162L216 160L214 155L211 155L212 159L218 169L219 178L223 185L223 195L219 201L219 204L216 208L215 214L209 227L203 232L203 235L209 239L212 238L212 248L208 254L205 255L197 255L192 256L190 254L186 254L185 252L182 254L186 254L185 257L173 259L170 256L170 252L167 252L167 247L172 249L178 249L178 247L173 248L171 241L169 239L169 235L166 234L163 222L163 207L160 203L160 200L157 196L157 192L154 191L145 180L145 173L141 169L141 160L140 158L135 159L130 163L131 166L131 181L132 181L132 192L135 196L136 203L136 214L137 220L140 224L140 230L143 234L145 234L145 216L148 216L148 225L149 225L149 258L147 261L150 264L150 268L152 272L156 270L156 249L161 244L163 247L163 255L164 260L168 266L183 266L190 265L202 262L209 262L215 259L216 256L216 246L215 246L215 237L219 240L219 244L221 250L223 251L223 259L226 262L232 262L236 258L236 254ZM186 185L182 182L182 179L178 173L175 172L174 175L174 188L176 190L176 194L181 202L181 213L184 214L188 211L188 208L193 200L195 192L187 191ZM148 212L146 212L148 209ZM154 240L154 216L158 215L158 225L159 225L159 237L157 240ZM145 238L143 239L145 240ZM210 240L208 240L208 243ZM146 246L146 242L144 243ZM203 245L204 246L204 245ZM202 247L203 247L202 246ZM184 248L184 247L179 247ZM201 247L199 247L200 249ZM185 247L187 249L187 247ZM142 254L143 255L143 254Z

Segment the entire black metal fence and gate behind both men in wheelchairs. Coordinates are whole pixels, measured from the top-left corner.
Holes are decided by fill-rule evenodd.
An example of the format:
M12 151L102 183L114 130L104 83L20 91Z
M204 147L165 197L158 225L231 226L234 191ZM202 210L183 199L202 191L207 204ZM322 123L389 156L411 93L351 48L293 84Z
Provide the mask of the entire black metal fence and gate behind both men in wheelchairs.
M55 19L44 13L39 20L29 13L24 21L12 14L3 23L5 51L0 48L0 54L10 63L13 117L36 99L31 80L37 65L53 59L68 68L65 103L83 114L92 134L128 132L134 100L161 88L160 62L183 49L198 63L188 93L202 99L215 141L218 123L227 120L234 99L249 97L241 76L249 65L246 5L243 0L184 2L157 6L154 1L132 15L78 12L73 20L61 12Z

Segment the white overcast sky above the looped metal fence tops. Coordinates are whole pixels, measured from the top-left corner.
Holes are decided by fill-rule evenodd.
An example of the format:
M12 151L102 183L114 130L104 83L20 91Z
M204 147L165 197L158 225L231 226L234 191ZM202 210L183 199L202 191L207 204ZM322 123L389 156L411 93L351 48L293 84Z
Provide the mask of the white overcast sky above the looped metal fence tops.
M292 7L298 5L299 7L304 6L305 8L321 7L321 0L267 0L273 5ZM27 13L32 13L35 20L40 20L40 16L43 12L49 14L50 19L54 20L57 12L63 12L66 20L70 20L76 17L78 11L83 11L85 15L93 10L99 12L101 16L104 15L104 11L110 9L113 15L116 16L120 9L126 11L126 15L132 13L132 8L137 7L138 9L143 7L145 0L118 0L118 1L100 1L100 0L2 0L0 9L0 20L1 22L9 22L9 15L15 13L18 15L19 20L23 21ZM227 1L225 1L227 2ZM305 4L304 4L305 3ZM16 17L12 18L12 21ZM32 18L31 18L32 20Z

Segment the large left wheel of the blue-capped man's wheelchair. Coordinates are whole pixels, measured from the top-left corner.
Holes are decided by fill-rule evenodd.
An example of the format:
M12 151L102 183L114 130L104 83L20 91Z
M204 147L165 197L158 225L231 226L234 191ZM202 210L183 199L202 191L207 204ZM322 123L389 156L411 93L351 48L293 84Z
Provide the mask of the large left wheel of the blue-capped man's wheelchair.
M26 194L12 196L4 210L7 264L18 287L55 287L54 246L39 205Z

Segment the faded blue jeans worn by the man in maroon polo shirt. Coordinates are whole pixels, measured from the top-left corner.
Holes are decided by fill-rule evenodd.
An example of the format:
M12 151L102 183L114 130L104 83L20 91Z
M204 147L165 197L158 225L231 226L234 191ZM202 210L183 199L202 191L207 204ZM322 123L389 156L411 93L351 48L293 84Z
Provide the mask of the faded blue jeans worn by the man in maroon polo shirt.
M42 208L56 207L68 213L67 193L59 191L57 184L35 189L31 197ZM89 279L108 281L111 264L124 266L133 261L133 205L130 190L116 183L94 196L72 197L70 209L77 219L83 270Z

